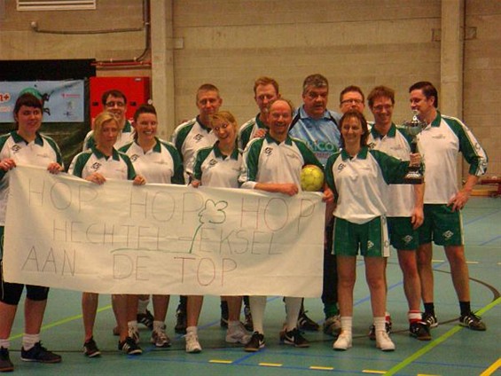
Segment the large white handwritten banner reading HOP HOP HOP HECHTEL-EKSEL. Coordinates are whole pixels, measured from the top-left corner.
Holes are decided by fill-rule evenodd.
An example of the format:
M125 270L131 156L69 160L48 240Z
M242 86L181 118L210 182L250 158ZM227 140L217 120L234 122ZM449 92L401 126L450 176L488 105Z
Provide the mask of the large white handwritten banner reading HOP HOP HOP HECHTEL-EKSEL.
M4 278L102 294L322 291L325 204L238 189L10 175Z

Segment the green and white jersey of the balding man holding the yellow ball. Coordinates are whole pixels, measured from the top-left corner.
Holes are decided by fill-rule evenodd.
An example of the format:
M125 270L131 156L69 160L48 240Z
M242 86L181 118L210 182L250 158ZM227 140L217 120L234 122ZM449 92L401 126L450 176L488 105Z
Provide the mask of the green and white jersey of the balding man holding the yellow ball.
M301 190L301 168L313 164L323 168L315 154L298 138L278 142L270 134L254 138L244 152L239 182L254 189L256 183L294 183Z

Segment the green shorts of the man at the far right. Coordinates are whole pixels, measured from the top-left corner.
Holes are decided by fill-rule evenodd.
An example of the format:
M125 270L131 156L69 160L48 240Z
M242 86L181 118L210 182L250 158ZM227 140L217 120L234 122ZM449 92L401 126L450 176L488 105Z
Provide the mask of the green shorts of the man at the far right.
M445 204L425 204L425 221L419 227L419 244L463 246L463 217Z

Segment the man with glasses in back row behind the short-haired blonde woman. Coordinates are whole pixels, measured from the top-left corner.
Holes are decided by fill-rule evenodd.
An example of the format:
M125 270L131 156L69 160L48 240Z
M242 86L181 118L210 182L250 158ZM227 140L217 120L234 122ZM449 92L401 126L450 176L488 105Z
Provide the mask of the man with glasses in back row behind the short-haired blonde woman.
M114 145L115 149L120 149L121 146L127 145L134 141L132 136L132 125L126 118L127 113L127 98L120 90L107 90L101 96L101 103L103 104L103 109L114 114L118 125L120 126L120 133ZM94 141L94 130L90 130L83 140L82 151L85 152L89 150L92 146L96 145Z

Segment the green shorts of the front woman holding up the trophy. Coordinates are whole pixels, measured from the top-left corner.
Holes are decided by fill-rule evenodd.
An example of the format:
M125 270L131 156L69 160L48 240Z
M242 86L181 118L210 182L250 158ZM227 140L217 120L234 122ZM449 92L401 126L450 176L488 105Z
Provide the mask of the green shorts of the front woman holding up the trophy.
M389 239L385 216L357 224L334 217L333 255L388 257Z

